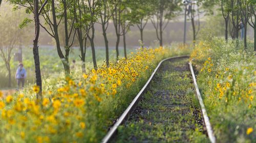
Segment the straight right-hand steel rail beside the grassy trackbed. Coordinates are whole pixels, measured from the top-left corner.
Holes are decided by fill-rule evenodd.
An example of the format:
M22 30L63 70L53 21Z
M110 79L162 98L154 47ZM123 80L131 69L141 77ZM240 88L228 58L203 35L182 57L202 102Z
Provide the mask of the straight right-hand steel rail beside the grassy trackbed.
M191 62L189 62L189 69L190 69L192 77L193 77L193 81L194 81L194 85L195 85L195 89L196 89L196 93L197 93L197 99L198 99L199 104L200 104L200 108L201 108L201 112L202 112L202 115L203 115L203 120L204 120L204 124L205 124L205 127L206 127L208 137L209 137L211 143L215 143L216 142L216 137L214 135L214 131L211 128L210 120L207 116L207 112L206 112L206 109L205 109L205 106L204 106L204 102L203 102L202 96L200 94L200 91L198 89L197 79L196 79L196 76L195 76L195 73L194 73L193 66L192 66Z

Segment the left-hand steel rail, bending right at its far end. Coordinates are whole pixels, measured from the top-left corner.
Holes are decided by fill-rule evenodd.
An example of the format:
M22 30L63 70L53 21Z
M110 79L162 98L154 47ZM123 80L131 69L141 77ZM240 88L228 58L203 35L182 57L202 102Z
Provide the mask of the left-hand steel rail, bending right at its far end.
M133 111L133 108L137 105L137 103L139 102L139 99L141 97L141 95L145 92L145 89L148 87L148 85L150 84L151 80L153 79L154 75L156 74L157 70L160 68L161 64L167 60L172 60L172 59L180 59L180 58L189 58L188 55L182 55L182 56L174 56L174 57L170 57L170 58L166 58L164 60L162 60L161 62L159 62L158 66L156 67L156 69L154 70L154 72L151 74L150 78L147 80L146 84L144 85L144 87L140 90L140 92L137 94L137 96L133 99L133 101L131 102L131 104L125 109L125 111L122 113L122 115L120 116L120 118L117 120L117 122L114 124L114 126L112 126L112 128L109 130L109 132L104 136L104 138L102 139L102 143L106 143L109 142L111 140L111 138L116 134L117 132L117 128L125 121L125 119L129 116L129 114Z

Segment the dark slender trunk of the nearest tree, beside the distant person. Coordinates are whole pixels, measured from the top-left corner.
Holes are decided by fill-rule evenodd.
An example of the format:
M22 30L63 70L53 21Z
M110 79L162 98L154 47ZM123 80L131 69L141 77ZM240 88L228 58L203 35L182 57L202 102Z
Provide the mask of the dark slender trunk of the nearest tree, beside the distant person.
M39 92L36 94L36 98L42 99L42 81L41 81L41 71L40 71L40 59L38 52L38 38L40 32L40 22L39 22L39 13L38 13L38 0L34 0L34 20L35 20L35 38L33 40L33 55L34 55L34 64L35 64L35 77L36 85L39 87Z

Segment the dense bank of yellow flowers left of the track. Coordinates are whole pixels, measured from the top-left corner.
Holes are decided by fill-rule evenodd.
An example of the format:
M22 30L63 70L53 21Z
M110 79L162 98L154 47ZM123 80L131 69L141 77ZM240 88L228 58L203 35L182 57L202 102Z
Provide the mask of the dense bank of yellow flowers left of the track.
M99 142L171 48L140 49L127 60L74 74L35 100L38 87L1 99L1 142ZM187 49L185 49L185 52ZM46 90L45 90L46 91Z

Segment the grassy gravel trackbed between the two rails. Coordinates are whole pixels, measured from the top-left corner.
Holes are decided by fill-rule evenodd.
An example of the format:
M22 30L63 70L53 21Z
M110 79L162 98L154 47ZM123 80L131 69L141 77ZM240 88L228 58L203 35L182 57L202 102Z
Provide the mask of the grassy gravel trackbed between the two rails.
M162 64L113 142L209 142L187 63L183 58Z

